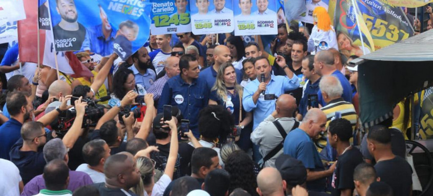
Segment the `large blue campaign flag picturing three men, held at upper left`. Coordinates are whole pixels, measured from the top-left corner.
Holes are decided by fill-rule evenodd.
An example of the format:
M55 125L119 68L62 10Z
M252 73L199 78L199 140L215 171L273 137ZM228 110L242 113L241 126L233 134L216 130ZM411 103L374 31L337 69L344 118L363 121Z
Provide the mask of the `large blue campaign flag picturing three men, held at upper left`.
M83 51L123 60L149 38L151 4L142 0L49 0L56 51Z

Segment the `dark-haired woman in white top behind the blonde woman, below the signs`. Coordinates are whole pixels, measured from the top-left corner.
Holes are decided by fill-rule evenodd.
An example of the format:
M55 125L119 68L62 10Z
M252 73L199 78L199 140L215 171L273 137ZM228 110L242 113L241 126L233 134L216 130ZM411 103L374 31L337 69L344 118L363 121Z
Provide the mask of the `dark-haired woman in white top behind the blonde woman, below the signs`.
M227 38L226 46L230 49L233 66L238 70L242 70L242 60L245 59L245 46L243 46L242 38L232 35Z

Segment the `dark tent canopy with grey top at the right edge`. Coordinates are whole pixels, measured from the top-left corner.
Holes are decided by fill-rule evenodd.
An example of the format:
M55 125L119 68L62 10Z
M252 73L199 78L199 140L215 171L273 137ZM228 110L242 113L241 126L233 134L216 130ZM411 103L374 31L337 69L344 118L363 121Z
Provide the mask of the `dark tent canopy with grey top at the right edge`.
M433 31L360 57L360 120L368 128L392 117L395 105L433 85Z

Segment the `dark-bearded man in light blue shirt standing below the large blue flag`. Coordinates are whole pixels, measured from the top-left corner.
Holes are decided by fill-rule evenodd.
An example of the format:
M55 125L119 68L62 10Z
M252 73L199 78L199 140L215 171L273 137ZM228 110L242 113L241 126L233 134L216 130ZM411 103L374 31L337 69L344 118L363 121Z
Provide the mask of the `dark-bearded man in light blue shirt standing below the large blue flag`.
M134 64L129 69L134 72L135 84L142 85L145 90L148 90L156 80L155 68L150 60L148 50L141 47L131 57Z

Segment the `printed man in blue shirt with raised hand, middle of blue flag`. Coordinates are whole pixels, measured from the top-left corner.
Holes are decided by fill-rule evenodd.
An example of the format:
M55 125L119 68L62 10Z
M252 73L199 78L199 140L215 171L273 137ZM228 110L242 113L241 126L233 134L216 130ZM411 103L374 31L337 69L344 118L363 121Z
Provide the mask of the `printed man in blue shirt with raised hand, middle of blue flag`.
M90 51L101 56L108 56L113 52L113 42L117 30L108 21L107 14L99 5L101 24L89 28Z

